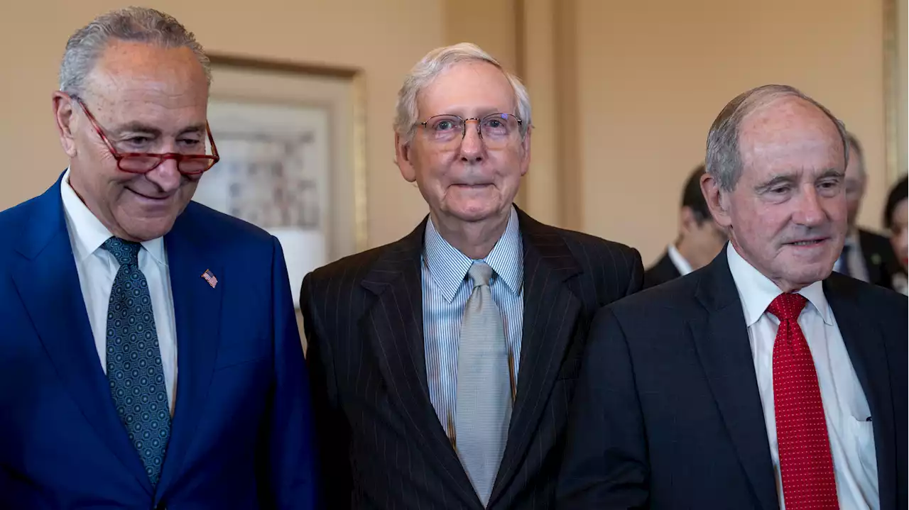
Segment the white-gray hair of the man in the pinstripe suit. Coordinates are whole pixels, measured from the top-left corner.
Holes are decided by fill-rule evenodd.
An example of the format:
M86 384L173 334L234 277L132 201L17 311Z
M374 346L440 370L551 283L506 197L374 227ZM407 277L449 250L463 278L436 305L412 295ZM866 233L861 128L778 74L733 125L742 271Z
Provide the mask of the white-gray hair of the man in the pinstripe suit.
M499 64L492 55L484 52L476 44L460 43L429 52L418 62L410 74L407 74L401 90L398 91L397 106L395 108L395 132L404 140L410 142L414 138L414 132L419 118L419 111L416 107L416 97L429 83L439 75L450 69L454 64L462 62L485 62L493 64L504 73L508 83L514 90L514 103L517 103L517 116L521 119L521 136L527 133L531 126L530 118L530 94L524 88L524 84L514 74L504 70L502 64ZM509 113L509 112L503 112Z

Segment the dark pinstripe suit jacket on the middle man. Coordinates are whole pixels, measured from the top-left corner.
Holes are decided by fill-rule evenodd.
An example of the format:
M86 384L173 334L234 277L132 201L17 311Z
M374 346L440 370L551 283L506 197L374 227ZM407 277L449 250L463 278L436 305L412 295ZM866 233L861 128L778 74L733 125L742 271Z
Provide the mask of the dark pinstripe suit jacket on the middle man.
M565 420L594 312L640 289L636 250L518 211L524 332L489 508L554 505ZM306 276L300 303L328 508L482 508L430 402L420 257L402 240Z

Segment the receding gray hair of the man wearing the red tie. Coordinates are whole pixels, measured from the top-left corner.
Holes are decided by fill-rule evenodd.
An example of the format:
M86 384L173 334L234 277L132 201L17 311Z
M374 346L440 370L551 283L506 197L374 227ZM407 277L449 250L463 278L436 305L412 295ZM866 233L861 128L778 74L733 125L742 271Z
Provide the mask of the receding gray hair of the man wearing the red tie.
M758 108L784 96L798 97L814 104L834 123L843 141L843 153L849 161L849 142L846 140L844 124L834 117L823 104L814 101L798 89L789 85L764 85L739 94L725 105L717 115L707 134L706 170L720 184L720 189L733 191L742 175L742 153L739 152L739 130L744 118Z

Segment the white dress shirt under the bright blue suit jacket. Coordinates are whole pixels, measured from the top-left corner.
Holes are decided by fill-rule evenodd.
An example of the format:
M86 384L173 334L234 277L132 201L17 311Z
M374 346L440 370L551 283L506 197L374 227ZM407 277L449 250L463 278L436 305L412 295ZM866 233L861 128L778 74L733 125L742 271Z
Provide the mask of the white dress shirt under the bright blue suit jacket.
M60 185L66 228L75 256L75 269L79 273L79 286L85 299L88 323L95 337L95 348L101 368L107 373L107 305L114 287L114 278L120 263L101 247L113 234L92 211L85 207L69 184L69 170ZM165 372L165 388L174 414L176 400L176 321L174 295L171 291L170 272L167 270L167 252L164 238L146 240L139 250L139 270L148 280L148 292L155 313L155 330L161 348L161 365Z

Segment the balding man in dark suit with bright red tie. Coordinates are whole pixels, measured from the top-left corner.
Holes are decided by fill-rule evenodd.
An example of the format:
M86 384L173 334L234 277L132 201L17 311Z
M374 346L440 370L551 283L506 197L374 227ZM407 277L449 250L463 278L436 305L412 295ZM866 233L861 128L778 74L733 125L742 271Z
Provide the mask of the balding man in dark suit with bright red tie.
M560 508L909 507L909 300L832 273L846 146L791 87L725 106L702 186L730 243L597 315Z

